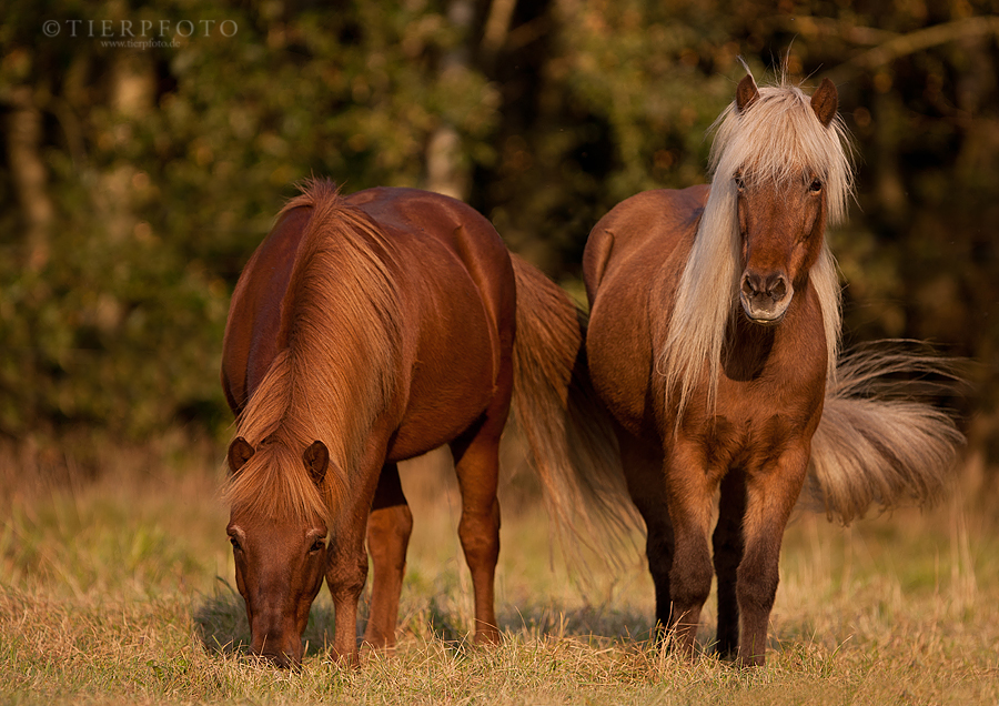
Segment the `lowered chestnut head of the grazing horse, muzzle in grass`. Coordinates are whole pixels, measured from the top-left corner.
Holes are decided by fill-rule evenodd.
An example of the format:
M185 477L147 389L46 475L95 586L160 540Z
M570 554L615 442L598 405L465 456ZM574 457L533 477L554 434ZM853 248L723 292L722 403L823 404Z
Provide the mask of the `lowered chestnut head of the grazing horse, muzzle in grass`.
M302 464L305 483L314 484L312 488L300 488L307 494L322 488L330 455L322 442L315 442L299 456L289 454L279 442L265 440L254 448L239 437L229 447L228 461L233 483L241 480L241 474L283 476L287 481L289 476L302 476L301 468L281 467L282 464ZM271 467L260 467L262 464ZM307 502L292 502L283 510L268 512L273 511L272 503L278 498L260 495L273 488L273 483L262 481L256 497L245 490L232 494L228 533L235 558L236 586L246 602L250 648L278 666L291 667L301 664L302 633L323 584L326 523L315 503L312 510L307 510Z

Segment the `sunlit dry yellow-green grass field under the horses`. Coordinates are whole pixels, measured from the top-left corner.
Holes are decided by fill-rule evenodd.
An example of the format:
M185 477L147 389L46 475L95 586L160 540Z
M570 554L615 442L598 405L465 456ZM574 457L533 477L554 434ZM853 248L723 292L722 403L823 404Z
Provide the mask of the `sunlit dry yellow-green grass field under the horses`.
M741 672L648 641L637 553L625 569L595 563L585 583L567 572L523 477L501 496L503 644L471 646L455 484L441 456L417 460L403 476L416 526L394 654L331 663L324 589L303 668L282 672L243 647L218 453L180 438L95 451L89 480L71 460L3 455L0 704L999 703L999 521L973 480L931 512L847 530L799 513L767 666Z

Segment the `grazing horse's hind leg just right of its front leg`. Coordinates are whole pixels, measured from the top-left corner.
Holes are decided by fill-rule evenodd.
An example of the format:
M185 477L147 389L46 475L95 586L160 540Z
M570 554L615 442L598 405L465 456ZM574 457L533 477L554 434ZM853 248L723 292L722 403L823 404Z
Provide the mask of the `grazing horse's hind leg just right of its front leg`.
M398 598L412 531L413 514L398 480L398 466L387 463L379 476L379 486L367 518L367 552L374 575L371 614L364 642L375 648L391 648L395 645Z

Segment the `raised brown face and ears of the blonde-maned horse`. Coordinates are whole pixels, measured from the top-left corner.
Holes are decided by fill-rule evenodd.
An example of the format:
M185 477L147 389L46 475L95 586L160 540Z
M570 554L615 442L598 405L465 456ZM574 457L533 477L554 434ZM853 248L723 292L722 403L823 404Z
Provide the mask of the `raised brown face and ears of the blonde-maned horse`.
M739 117L751 113L759 99L756 82L747 75L736 90ZM731 174L741 241L739 300L755 323L770 325L784 317L821 253L829 210L827 174L820 164L780 153L796 149L795 141L807 140L811 132L829 130L837 104L836 87L825 79L811 97L810 109L800 112L798 123L789 124L797 134L778 135L771 130L769 149L775 154L741 164ZM771 160L783 161L775 168Z

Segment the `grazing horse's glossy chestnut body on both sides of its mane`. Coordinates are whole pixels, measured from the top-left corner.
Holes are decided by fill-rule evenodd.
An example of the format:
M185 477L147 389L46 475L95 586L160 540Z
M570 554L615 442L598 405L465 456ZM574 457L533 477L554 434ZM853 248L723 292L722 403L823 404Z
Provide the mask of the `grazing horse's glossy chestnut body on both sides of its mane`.
M504 371L515 326L513 268L490 222L454 199L380 188L343 200L380 232L371 252L390 273L400 307L385 312L397 324L400 340L389 372L396 392L385 401L379 427L394 440L390 460L401 460L451 441L497 395L508 405L511 375ZM222 384L236 414L289 345L283 339L296 309L290 284L307 251L304 240L315 230L312 214L311 206L287 211L233 292ZM340 321L356 325L349 312Z

